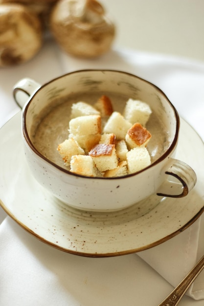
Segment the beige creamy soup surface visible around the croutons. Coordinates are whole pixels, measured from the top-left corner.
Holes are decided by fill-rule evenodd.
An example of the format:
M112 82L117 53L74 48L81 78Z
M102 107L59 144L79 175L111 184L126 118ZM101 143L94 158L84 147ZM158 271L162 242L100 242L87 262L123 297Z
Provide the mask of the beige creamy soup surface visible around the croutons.
M118 96L111 92L101 92L101 94L98 92L89 92L68 96L61 103L58 101L56 105L39 114L37 126L32 127L31 140L36 149L50 161L68 170L57 151L57 146L68 138L71 105L79 101L93 105L101 95L107 95L112 101L113 110L119 111L121 114L123 113L126 101L130 98L127 96ZM144 102L148 104L148 101ZM147 149L151 156L151 162L154 162L169 147L169 135L154 111L150 116L146 128L152 134Z

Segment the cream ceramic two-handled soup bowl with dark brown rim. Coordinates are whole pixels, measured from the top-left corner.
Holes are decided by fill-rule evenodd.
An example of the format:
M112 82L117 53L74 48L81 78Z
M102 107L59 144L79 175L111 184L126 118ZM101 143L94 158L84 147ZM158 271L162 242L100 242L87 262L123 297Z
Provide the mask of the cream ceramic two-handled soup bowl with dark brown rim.
M81 70L43 86L25 78L15 85L13 93L23 108L23 143L31 172L43 187L68 205L90 211L113 211L151 195L157 195L158 203L161 197L185 197L196 184L192 168L174 158L180 126L177 110L158 87L146 80L121 71ZM149 104L153 116L149 119L153 138L149 147L150 166L120 177L88 177L71 173L36 149L33 127L40 120L39 114L45 116L45 109L53 109L69 99L77 102L84 95L89 102L89 96L91 101L91 95L102 94L112 97L113 108L118 111L122 111L129 98Z

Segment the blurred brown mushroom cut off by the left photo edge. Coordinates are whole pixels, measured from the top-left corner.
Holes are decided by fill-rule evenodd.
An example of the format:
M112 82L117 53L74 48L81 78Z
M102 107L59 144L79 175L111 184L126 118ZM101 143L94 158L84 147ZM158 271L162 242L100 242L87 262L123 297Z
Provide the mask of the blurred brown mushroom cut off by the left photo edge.
M0 66L22 64L42 46L38 17L20 4L0 4Z

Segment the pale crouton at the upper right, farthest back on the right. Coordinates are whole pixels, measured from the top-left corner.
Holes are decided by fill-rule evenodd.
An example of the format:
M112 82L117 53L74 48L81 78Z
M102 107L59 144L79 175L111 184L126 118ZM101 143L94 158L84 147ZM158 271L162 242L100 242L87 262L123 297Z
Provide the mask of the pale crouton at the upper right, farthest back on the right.
M152 110L147 103L139 100L129 99L126 102L123 116L132 124L139 122L142 126L145 127L151 113Z

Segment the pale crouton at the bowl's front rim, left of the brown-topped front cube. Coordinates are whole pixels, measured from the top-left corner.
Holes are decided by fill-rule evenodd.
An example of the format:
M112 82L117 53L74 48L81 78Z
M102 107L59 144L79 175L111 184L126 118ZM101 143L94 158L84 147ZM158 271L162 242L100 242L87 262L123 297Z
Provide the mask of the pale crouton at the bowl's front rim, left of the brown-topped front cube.
M78 175L98 175L96 165L89 155L73 155L70 160L70 171Z

